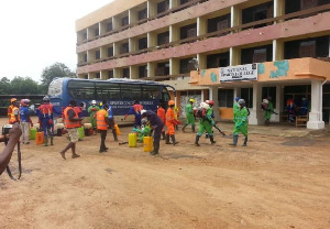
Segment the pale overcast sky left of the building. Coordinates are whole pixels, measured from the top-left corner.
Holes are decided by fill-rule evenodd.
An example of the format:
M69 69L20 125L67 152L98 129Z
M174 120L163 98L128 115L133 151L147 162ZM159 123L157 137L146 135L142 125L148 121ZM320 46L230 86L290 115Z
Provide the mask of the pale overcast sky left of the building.
M77 68L75 21L113 0L4 0L0 3L0 79L38 81L44 68Z

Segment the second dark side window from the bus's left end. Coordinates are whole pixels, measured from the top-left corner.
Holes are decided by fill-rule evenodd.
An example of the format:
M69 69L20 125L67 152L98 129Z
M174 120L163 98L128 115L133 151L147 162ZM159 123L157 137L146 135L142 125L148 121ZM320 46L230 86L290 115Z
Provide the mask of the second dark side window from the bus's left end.
M112 84L108 81L96 83L97 99L120 99L119 84Z

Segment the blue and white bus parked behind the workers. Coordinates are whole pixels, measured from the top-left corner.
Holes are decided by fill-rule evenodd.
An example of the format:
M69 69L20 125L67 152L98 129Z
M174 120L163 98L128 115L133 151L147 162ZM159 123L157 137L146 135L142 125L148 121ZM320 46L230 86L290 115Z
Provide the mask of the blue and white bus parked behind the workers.
M134 100L139 100L147 110L155 111L160 101L167 107L170 100L167 88L176 95L174 87L148 80L56 78L50 85L48 96L53 106L59 110L67 107L72 99L76 99L77 105L82 102L84 117L89 116L87 109L91 100L98 105L106 100L112 107L116 120L121 121Z

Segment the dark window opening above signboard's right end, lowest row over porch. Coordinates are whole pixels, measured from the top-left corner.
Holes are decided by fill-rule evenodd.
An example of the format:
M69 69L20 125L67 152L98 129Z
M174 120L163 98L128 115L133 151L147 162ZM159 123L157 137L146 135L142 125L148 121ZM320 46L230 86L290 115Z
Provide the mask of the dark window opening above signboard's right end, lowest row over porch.
M241 52L242 64L272 62L273 45L244 48Z

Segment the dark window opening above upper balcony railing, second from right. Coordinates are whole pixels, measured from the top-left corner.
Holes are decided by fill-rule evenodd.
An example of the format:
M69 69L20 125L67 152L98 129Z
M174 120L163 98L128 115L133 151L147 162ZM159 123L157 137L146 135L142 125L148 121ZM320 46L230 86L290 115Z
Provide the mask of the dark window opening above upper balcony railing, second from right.
M243 24L250 23L250 22L256 22L264 19L270 19L274 17L274 3L266 2L263 4L258 4L255 7L246 8L242 10L242 22ZM266 26L267 24L258 24L253 28L262 28Z

